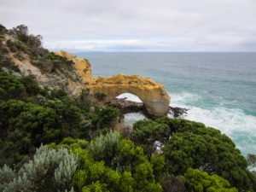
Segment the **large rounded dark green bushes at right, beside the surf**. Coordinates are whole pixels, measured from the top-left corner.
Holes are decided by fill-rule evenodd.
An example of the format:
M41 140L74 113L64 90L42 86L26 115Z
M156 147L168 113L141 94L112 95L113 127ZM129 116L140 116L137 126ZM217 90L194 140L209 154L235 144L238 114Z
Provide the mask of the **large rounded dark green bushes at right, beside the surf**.
M247 160L229 137L201 123L185 119L141 120L132 139L148 150L164 146L166 169L183 175L189 167L208 174L218 174L239 190L256 190L255 177L247 171Z

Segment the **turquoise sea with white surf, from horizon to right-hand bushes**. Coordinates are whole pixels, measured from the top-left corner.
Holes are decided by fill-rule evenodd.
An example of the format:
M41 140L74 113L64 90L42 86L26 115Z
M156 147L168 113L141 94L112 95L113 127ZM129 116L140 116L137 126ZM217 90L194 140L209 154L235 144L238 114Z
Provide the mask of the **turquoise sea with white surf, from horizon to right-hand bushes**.
M166 86L186 119L228 135L242 154L256 154L256 53L77 53L94 77L123 73Z

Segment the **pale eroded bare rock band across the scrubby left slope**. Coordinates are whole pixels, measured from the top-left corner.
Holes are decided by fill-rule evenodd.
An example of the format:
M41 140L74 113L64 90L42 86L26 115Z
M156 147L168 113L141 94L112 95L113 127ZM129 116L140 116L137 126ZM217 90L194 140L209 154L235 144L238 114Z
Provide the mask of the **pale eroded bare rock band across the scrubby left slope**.
M12 35L4 34L2 39L3 47L8 48L7 41L12 40L19 42L17 38ZM67 52L66 52L67 53ZM43 70L37 65L32 63L32 58L30 55L26 53L25 50L20 50L19 55L22 56L22 60L16 58L17 52L9 51L6 53L6 57L9 58L10 61L13 61L15 66L19 67L20 72L23 75L30 75L37 79L38 84L52 87L53 89L63 89L66 90L69 96L73 98L80 95L81 90L86 89L86 85L83 83L84 79L91 79L91 73L84 73L84 76L79 75L79 69L77 66L82 63L82 59L74 62L70 71L66 71L66 73L61 73L61 71L56 70L55 73L50 73L48 71ZM68 55L71 56L71 55ZM73 55L74 56L74 55ZM74 56L75 57L75 56ZM74 60L76 60L74 58ZM85 61L84 61L85 63ZM82 65L83 66L83 65ZM84 67L84 66L83 66ZM86 63L85 67L90 68L90 63ZM79 67L78 67L79 68ZM77 70L74 70L77 69ZM6 68L5 70L11 73L11 69ZM62 71L65 71L62 69ZM90 70L89 70L90 72ZM81 79L84 77L84 79Z

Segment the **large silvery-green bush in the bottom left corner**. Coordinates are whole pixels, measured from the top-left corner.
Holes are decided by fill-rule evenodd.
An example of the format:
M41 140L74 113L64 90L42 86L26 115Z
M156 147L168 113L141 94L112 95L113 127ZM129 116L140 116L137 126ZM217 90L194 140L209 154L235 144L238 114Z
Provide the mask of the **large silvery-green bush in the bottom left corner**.
M52 188L64 191L72 180L78 166L78 156L69 154L67 148L58 150L41 146L34 154L33 160L24 164L15 174L4 166L0 172L12 177L11 181L2 183L3 191L37 191Z

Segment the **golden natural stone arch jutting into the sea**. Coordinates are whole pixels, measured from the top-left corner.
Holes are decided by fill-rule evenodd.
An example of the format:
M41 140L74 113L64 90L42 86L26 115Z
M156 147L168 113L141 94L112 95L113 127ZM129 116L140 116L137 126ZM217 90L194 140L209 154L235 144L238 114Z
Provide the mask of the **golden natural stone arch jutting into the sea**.
M109 78L97 77L92 79L87 87L91 93L106 94L105 102L110 102L123 93L136 95L143 101L147 113L155 118L162 117L168 112L170 96L166 93L164 85L149 78L123 74Z

